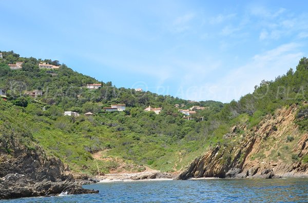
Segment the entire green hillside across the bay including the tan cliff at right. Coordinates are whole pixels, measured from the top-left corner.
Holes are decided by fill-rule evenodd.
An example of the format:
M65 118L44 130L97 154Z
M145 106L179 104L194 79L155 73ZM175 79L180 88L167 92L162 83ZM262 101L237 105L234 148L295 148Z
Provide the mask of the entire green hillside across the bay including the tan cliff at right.
M8 142L3 134L19 129L18 141L29 150L38 144L74 172L98 174L98 168L104 173L142 171L147 166L183 171L180 178L185 179L234 177L252 167L261 172L274 165L280 168L275 169L276 174L292 173L288 167L296 165L300 166L298 172L306 173L306 58L300 60L295 72L291 69L275 81L262 81L254 93L222 104L117 88L111 82L74 72L65 64L60 66L56 60L2 53L0 89L7 94L6 101L0 101L0 124L6 127L0 128L2 143ZM11 70L8 64L18 61L21 67ZM43 63L60 67L40 69L38 64ZM87 88L93 83L100 88ZM34 89L42 95L33 98L25 94ZM103 107L111 104L125 104L126 109L105 112ZM192 108L194 120L185 120L176 104L183 109L204 108ZM160 114L145 112L149 105L161 107ZM64 111L80 116L64 116ZM88 111L94 116L83 115ZM8 156L14 151L10 145L3 147Z

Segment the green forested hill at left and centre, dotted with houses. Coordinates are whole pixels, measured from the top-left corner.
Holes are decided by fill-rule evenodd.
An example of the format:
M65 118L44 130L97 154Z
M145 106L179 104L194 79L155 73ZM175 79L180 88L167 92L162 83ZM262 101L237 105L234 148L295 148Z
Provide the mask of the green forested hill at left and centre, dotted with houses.
M56 60L24 58L12 51L0 53L3 55L0 58L0 89L7 95L6 101L1 100L0 124L5 123L2 132L20 135L30 148L38 143L49 155L60 157L75 171L95 173L97 169L92 157L95 152L101 152L97 162L105 172L142 170L145 164L171 171L179 159L179 152L183 157L187 156L183 163L188 163L195 156L193 153L202 151L200 146L207 143L205 126L223 107L221 102L190 102L117 88L111 82L74 72ZM22 62L20 69L11 70L11 64L14 66L16 62ZM40 63L60 67L40 69ZM101 87L86 87L93 83L101 84ZM42 96L32 98L25 94L34 89L42 91ZM104 112L103 107L111 104L126 104L126 109ZM183 109L192 106L205 109L197 110L192 116L194 121L187 121L175 104ZM162 107L161 114L144 112L149 105ZM81 116L64 116L64 111L75 111ZM83 116L88 111L95 116ZM200 122L201 117L205 121ZM7 142L5 136L2 139ZM6 151L13 150L10 145L5 148Z

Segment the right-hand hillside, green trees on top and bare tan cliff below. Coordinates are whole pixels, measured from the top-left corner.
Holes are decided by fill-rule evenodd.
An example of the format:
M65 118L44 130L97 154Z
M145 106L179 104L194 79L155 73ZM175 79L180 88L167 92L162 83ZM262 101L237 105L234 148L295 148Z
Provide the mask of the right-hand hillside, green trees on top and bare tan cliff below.
M177 177L308 176L308 60L227 105L233 127Z

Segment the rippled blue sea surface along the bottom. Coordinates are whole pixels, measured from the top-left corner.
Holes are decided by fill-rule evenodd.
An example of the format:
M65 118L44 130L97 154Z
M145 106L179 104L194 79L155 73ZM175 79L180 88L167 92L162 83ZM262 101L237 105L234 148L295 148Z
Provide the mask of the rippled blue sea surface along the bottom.
M0 202L308 202L308 178L141 181L84 187L100 193Z

